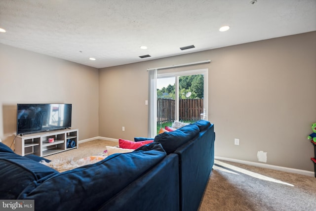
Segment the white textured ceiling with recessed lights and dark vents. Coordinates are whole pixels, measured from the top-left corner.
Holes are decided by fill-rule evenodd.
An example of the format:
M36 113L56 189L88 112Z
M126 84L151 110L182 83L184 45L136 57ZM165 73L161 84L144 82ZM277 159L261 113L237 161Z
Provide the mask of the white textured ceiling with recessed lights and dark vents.
M316 0L0 0L0 28L0 43L103 68L316 31Z

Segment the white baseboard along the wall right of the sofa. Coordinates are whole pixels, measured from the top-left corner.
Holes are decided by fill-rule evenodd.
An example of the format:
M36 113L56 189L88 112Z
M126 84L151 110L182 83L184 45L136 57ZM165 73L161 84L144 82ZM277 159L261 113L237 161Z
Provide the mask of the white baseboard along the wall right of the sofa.
M274 165L269 165L269 164L262 164L262 163L256 163L256 162L251 162L251 161L243 161L243 160L238 160L238 159L233 159L233 158L225 158L225 157L219 157L215 156L216 160L222 160L222 161L230 161L238 164L245 164L249 166L255 166L255 167L261 167L261 168L266 168L266 169L274 169L274 170L280 170L280 171L285 171L285 172L290 172L290 173L299 173L307 176L315 176L314 171L308 171L308 170L301 170L301 169L291 169L287 167L279 167L279 166L274 166Z

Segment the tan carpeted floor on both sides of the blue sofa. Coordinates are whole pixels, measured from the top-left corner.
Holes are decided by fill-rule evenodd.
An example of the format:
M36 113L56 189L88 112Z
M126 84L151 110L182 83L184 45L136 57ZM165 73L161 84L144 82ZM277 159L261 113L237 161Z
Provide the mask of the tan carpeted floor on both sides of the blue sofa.
M79 160L117 142L93 140L47 156ZM215 160L198 211L316 211L316 178Z

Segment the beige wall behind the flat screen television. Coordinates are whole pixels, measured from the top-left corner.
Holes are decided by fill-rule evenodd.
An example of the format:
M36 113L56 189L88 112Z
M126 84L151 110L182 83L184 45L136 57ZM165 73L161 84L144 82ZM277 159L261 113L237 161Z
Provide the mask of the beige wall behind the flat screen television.
M11 145L17 103L72 103L79 139L99 135L99 70L0 44L0 138ZM12 146L13 148L13 146Z

